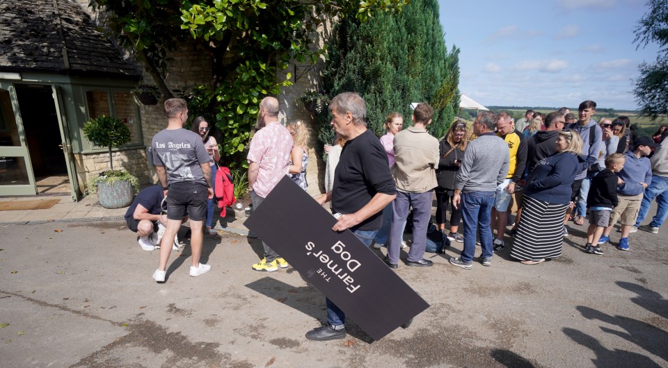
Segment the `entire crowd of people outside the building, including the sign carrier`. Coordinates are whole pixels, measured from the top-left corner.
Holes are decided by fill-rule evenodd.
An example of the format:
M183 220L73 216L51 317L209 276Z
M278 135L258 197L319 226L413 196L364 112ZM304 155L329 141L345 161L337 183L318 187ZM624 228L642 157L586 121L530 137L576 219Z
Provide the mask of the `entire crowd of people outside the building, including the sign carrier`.
M159 283L165 281L170 251L178 243L177 230L187 219L190 275L200 276L211 268L199 260L202 234L215 235L212 176L220 160L218 144L203 117L186 131L185 102L168 99L164 109L168 126L152 140L160 183L140 192L126 214L141 248L160 249L153 274ZM415 106L412 124L405 129L404 117L390 113L380 139L367 129L365 101L358 94L337 95L329 111L336 140L326 146L326 193L316 200L323 205L331 202L332 212L338 214L333 231L349 229L366 246L386 246L384 261L392 269L399 267L401 249L406 247L407 221L413 235L405 265L433 265L424 259L424 252L434 194L436 229L453 244L463 243L461 255L449 260L463 269L473 267L477 245L482 249L478 260L487 267L493 253L506 249L507 242L511 258L524 265L559 257L563 237L572 226L569 221L583 225L587 212L584 253L602 254L601 246L611 242L617 221L621 222L617 248L628 251L630 233L637 229L658 233L668 215L665 126L644 137L633 135L627 117L596 122L594 101L580 103L577 116L568 108L545 116L527 110L517 122L508 112L482 111L472 126L454 122L440 141L429 133L434 110L428 103ZM278 114L277 99L262 99L258 130L247 156L254 208L286 174L304 190L308 186L308 128L302 122L283 126ZM653 200L657 213L650 224L641 225ZM264 256L253 270L288 266L276 251L264 242L263 246ZM307 333L308 339L346 335L344 312L329 299L326 310L327 324ZM405 322L404 327L411 323Z

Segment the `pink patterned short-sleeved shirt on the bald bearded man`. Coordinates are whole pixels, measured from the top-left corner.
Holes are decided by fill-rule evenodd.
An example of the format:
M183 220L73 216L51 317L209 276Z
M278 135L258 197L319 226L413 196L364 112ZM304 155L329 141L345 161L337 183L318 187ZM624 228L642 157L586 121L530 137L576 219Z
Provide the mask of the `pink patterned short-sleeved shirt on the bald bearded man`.
M257 180L251 188L255 194L266 198L278 181L287 174L292 151L292 136L279 122L267 123L250 140L248 162L260 165Z

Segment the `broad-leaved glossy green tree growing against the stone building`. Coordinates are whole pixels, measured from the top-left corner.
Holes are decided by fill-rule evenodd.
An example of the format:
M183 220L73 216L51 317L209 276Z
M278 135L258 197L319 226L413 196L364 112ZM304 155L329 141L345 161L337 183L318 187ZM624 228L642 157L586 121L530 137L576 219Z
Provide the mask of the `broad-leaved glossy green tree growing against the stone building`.
M401 10L409 0L90 0L106 24L136 53L167 97L168 52L198 44L212 58L212 85L186 92L191 110L216 117L225 139L223 160L243 164L250 128L262 97L277 95L292 76L277 80L291 60L315 62L317 26L332 17L360 21L376 12ZM177 5L175 5L175 3Z

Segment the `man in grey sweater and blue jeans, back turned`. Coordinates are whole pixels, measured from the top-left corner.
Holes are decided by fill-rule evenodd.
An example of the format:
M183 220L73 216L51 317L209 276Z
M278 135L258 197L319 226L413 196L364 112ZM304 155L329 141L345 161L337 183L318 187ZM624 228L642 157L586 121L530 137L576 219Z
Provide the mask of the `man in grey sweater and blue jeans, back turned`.
M456 176L452 205L461 206L464 224L464 249L450 263L464 269L473 267L475 235L480 226L483 266L492 264L491 210L496 187L504 181L510 165L508 144L494 134L497 117L494 112L482 111L473 123L478 137L468 144Z

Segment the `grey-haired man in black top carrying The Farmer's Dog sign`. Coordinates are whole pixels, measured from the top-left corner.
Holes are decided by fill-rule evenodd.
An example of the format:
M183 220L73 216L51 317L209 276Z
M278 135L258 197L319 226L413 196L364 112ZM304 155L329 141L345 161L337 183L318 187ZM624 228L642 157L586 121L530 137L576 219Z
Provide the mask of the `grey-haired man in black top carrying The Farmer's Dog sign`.
M395 199L395 182L390 175L388 158L378 137L367 130L366 103L359 94L344 92L329 104L334 131L346 140L335 169L333 190L317 198L318 203L332 201L340 213L333 231L352 231L370 246L381 226L381 210ZM327 324L306 333L309 340L335 340L346 337L346 315L329 299Z

